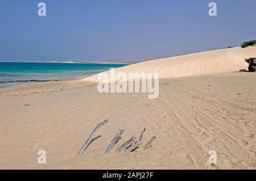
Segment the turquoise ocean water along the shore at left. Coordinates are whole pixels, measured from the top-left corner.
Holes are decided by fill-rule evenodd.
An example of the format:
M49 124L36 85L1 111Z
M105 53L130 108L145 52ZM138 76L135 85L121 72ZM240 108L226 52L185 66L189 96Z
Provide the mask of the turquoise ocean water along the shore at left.
M72 80L126 65L0 62L0 82L2 85L3 82L29 81L31 79L50 81Z

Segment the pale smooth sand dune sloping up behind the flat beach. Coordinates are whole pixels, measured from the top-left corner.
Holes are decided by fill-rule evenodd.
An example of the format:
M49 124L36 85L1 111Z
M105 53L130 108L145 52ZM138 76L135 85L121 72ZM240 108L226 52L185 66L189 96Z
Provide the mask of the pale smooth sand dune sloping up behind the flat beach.
M211 50L145 61L118 68L115 73L159 73L159 78L229 73L247 69L248 64L243 61L246 57L256 57L256 47ZM97 82L97 76L93 75L83 80Z

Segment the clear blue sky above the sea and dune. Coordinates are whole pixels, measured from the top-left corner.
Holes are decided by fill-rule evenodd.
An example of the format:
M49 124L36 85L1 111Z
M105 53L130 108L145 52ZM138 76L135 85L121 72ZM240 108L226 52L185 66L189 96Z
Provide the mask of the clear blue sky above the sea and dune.
M1 0L0 60L151 60L238 46L256 39L255 8L255 0Z

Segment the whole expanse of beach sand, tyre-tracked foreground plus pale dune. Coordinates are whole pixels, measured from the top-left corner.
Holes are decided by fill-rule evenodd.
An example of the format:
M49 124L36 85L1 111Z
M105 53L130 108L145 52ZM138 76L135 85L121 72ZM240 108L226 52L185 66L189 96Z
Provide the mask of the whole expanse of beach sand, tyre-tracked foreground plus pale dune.
M97 75L2 88L0 169L256 169L256 73L239 71L247 69L243 60L249 57L256 57L256 47L116 69L158 72L158 99L148 99L148 93L101 94ZM105 119L109 123L96 140L77 155ZM122 139L104 154L110 138L125 127ZM117 153L143 128L140 148ZM152 147L143 150L152 136ZM38 164L38 150L46 150L46 164ZM208 163L209 150L217 151L214 166Z

